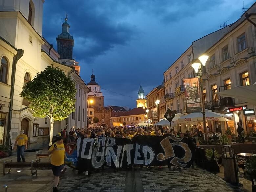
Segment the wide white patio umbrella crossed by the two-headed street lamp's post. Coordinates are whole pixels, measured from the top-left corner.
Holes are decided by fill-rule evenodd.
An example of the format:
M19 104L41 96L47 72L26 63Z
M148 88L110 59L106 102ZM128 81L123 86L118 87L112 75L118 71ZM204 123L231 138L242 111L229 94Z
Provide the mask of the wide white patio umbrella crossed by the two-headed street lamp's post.
M206 120L211 121L226 121L225 119L231 120L233 117L216 113L210 110L205 110L205 117ZM223 118L222 118L223 117ZM203 114L202 113L190 113L186 114L184 116L180 116L180 118L177 119L178 122L195 122L195 121L203 121Z

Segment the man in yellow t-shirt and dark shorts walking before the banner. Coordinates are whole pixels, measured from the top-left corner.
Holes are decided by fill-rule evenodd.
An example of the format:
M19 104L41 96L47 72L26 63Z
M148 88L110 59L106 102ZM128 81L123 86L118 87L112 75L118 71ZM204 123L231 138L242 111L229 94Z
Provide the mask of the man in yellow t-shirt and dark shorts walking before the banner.
M61 136L56 137L56 142L48 150L48 154L51 154L52 171L54 175L53 192L57 192L57 186L59 183L59 177L64 166L65 147L63 144L64 139Z

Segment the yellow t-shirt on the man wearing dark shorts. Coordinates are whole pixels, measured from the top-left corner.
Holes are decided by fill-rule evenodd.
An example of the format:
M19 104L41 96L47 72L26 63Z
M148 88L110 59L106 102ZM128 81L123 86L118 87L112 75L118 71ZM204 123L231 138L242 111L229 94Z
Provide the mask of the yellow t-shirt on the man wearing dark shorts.
M58 145L57 143L53 143L50 147L49 151L53 150L54 144L57 145L57 149L53 151L51 154L51 164L55 166L60 166L64 164L64 158L65 158L65 148L64 144Z

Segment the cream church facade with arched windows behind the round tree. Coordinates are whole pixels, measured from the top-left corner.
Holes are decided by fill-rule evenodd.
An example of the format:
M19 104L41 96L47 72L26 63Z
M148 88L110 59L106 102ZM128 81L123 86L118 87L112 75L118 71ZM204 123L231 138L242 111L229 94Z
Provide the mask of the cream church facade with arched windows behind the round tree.
M53 134L61 128L69 128L69 125L84 127L87 123L86 119L82 121L82 111L87 107L87 95L83 97L83 93L87 93L88 88L72 66L58 61L60 55L53 48L50 49L50 44L42 37L43 3L43 0L3 0L0 7L1 144L6 140L10 140L7 144L14 143L21 129L28 135L29 148L49 144L50 120L47 117L34 117L28 102L20 97L20 93L24 83L52 64L72 78L77 88L76 121L71 122L71 115L67 120L56 121Z

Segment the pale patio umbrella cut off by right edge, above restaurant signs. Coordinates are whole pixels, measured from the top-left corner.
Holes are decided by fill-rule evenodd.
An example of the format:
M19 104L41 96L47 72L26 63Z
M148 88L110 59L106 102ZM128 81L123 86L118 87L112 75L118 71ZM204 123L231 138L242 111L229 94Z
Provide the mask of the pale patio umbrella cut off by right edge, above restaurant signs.
M256 105L256 85L237 86L217 93L223 97L231 97L244 100L252 105Z

